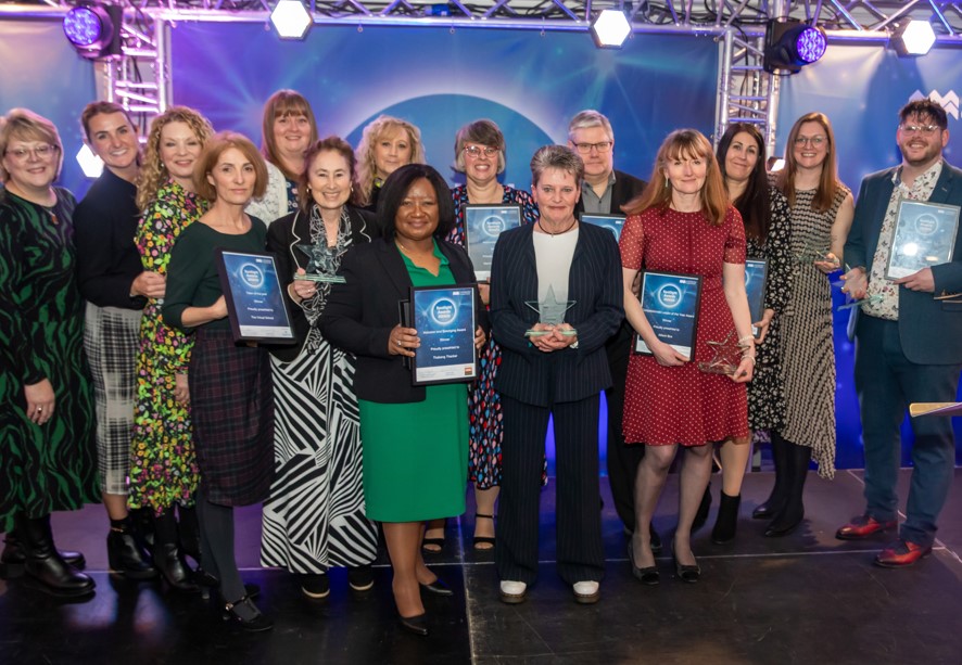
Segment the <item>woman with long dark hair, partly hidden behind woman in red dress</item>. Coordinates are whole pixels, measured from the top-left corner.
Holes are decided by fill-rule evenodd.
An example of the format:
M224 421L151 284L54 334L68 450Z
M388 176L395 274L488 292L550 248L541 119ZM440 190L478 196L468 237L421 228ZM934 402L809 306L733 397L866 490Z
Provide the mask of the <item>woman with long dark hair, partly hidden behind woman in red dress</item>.
M785 424L785 395L779 367L781 319L776 315L785 309L792 293L793 270L788 202L782 192L769 186L764 139L755 125L729 125L718 143L718 165L725 191L745 223L746 255L765 261L764 273L754 276L761 283L749 289L749 309L754 315L758 306L762 316L752 320L758 332L755 375L748 384L748 426L751 432L777 430ZM750 280L746 279L748 283ZM727 439L719 448L721 501L711 530L711 540L718 545L735 538L750 449L747 444Z

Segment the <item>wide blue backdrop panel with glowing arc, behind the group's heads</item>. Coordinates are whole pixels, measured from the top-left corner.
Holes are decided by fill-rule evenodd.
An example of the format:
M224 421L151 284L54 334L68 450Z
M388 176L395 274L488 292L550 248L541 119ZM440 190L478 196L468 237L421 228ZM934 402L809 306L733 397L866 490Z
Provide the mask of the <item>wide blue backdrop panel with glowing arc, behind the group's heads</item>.
M711 39L637 36L616 52L597 50L583 33L345 25L282 42L262 25L179 24L172 44L175 102L201 110L217 129L258 140L264 100L293 88L311 101L322 136L356 144L380 113L415 123L428 162L451 181L455 131L480 117L505 131L504 181L524 189L534 150L564 142L582 108L611 119L617 167L645 178L666 133L710 132L713 123Z

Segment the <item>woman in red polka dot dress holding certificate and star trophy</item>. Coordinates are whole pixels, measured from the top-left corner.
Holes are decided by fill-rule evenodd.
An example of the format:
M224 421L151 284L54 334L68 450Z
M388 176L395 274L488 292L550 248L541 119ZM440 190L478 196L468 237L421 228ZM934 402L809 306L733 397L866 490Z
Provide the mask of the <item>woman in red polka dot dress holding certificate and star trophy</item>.
M692 552L692 522L711 473L712 447L707 444L748 437L745 383L755 368L755 345L745 295L745 228L729 203L711 144L694 129L668 136L647 189L624 209L624 310L653 353L632 356L624 391L624 440L648 446L635 482L637 524L629 558L635 577L658 583L648 526L681 446L687 453L672 549L679 578L694 583L701 570ZM644 270L701 277L694 358L655 335L632 294L635 277ZM714 357L708 342L726 338L742 347L734 373L699 370L699 363Z

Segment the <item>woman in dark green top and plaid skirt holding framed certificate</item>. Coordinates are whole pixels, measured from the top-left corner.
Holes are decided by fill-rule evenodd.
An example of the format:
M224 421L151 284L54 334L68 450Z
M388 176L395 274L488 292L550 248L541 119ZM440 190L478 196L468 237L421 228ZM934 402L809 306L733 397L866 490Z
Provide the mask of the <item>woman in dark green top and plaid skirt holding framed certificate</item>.
M267 498L274 471L274 391L267 351L237 344L221 285L216 250L262 253L267 228L244 213L264 193L267 168L249 139L233 132L212 137L197 161L193 183L212 202L170 253L163 317L193 333L190 356L191 418L201 483L197 503L205 579L219 586L226 616L244 630L274 627L251 600L233 553L233 507ZM250 283L263 273L245 266Z

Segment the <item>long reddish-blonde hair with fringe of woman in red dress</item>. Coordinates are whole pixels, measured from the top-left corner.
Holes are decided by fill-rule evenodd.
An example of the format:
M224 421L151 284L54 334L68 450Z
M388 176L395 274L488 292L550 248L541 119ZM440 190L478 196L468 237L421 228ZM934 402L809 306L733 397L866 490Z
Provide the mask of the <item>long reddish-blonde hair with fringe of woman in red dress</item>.
M664 138L658 155L655 157L655 167L651 170L651 180L642 192L622 206L622 210L629 215L637 215L642 210L655 207L661 210L671 205L671 183L664 175L668 163L680 157L698 157L706 163L705 183L701 186L701 212L712 226L721 226L725 220L729 209L729 194L721 177L718 159L711 143L697 129L675 129Z

